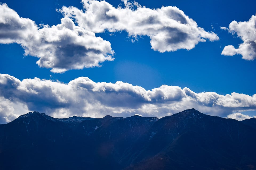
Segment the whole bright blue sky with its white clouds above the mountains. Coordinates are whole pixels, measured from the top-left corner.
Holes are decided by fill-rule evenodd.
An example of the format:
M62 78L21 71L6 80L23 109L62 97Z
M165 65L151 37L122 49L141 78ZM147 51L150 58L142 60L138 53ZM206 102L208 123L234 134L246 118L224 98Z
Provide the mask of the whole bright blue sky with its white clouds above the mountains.
M12 15L20 21L23 21L24 18L28 20L25 22L24 19L24 23L22 23L22 28L26 27L24 33L14 29L20 24L13 22L14 18L9 20L9 23L2 24L9 24L12 27L0 26L0 73L2 74L0 123L11 121L18 115L26 113L26 111L34 110L55 117L73 115L101 117L106 114L123 117L134 114L163 117L194 107L203 113L221 117L230 115L233 116L232 118L236 118L234 117L235 113L243 113L249 115L249 117L256 115L256 95L254 95L256 94L256 61L254 60L256 58L254 54L256 52L254 45L256 42L256 27L255 23L253 27L253 24L249 22L249 19L252 23L255 19L252 18L256 13L255 2L253 1L233 1L232 3L230 1L137 1L141 7L136 7L136 4L131 1L133 7L130 7L129 10L129 1L106 1L104 4L95 1L81 3L80 1L60 0L22 2L2 0L1 2L2 9L12 9L19 15L18 17L13 11L4 15L0 14L0 16L2 15L1 18L6 19L9 15ZM6 3L7 6L3 6L3 3ZM125 3L128 5L125 6ZM83 7L84 4L89 4L93 14L97 14L99 18L90 20L92 16ZM112 5L113 14L111 13L111 15L116 18L119 17L118 22L115 19L113 22L110 19L107 20L103 16L106 13L98 14L101 10L94 10L95 8L92 8L93 4L98 5L98 9ZM62 8L63 6L66 8ZM70 6L73 6L73 8ZM142 11L140 8L143 8L143 6L151 10ZM170 12L170 15L168 13L168 16L166 16L162 13L164 11L161 8L162 6L177 8L168 8L169 12L174 12ZM157 10L157 8L161 8L161 10ZM62 12L56 11L56 9L62 9ZM83 17L79 18L79 11L77 10L83 10L83 14L80 15ZM141 10L140 13L139 10ZM140 15L134 15L134 18L128 17L136 11ZM73 16L70 15L71 13ZM147 20L146 23L143 22L144 18L151 15L153 19L150 23ZM182 23L184 18L179 17L185 17L186 22ZM173 18L175 22L170 21L170 18ZM161 20L160 24L158 19ZM188 21L189 19L192 21ZM33 21L37 26L26 26L26 24L31 24ZM230 24L232 21L245 23L243 23L244 25L242 23ZM0 22L2 21L0 20ZM100 47L93 50L91 50L93 47L90 47L90 50L88 50L87 47L90 45L86 44L88 39L86 37L82 39L79 35L66 37L71 41L74 40L75 45L71 42L71 48L67 48L69 46L61 48L66 35L63 32L60 33L62 39L47 48L37 44L38 40L34 40L35 38L27 38L28 36L37 37L39 35L42 38L43 35L42 39L50 44L49 39L51 36L58 34L59 28L46 29L46 26L43 28L39 24L48 24L48 28L62 24L62 27L64 25L65 29L74 33L74 30L72 32L67 26L67 23L70 24L70 22L74 22L74 27L77 30L89 31L88 35L90 34L90 36L95 33L92 39L95 45ZM136 22L139 24L134 24ZM187 24L186 27L185 24ZM13 30L10 33L6 28L9 28L9 31L10 29ZM37 30L42 31L43 29L45 29L45 32L37 33ZM186 30L189 31L186 32ZM163 36L161 33L163 33ZM47 39L44 36L50 38ZM166 36L171 37L170 41L166 41L171 43L165 43L167 44L165 46L162 43L165 42ZM101 38L101 40L98 38ZM200 42L202 39L205 42ZM151 40L153 45L150 43ZM79 44L81 42L86 45L83 47ZM44 45L48 45L47 43ZM77 44L79 46L76 46ZM190 46L191 44L192 46ZM57 47L55 48L54 45ZM233 45L234 48L228 45ZM81 46L86 50L83 50ZM58 50L56 54L51 53L55 64L53 66L48 62L52 58L47 58L45 54L51 48ZM27 54L25 54L24 49L27 49ZM40 51L41 49L42 51ZM70 56L71 53L75 55ZM82 62L79 54L89 56L90 60L85 57L83 61L86 64L79 64ZM38 64L36 62L40 55L43 56L40 59L42 62ZM97 59L98 62L91 62L96 60L97 57L100 58ZM78 62L69 65L73 61ZM81 69L81 67L89 68ZM53 68L55 68L55 71ZM60 71L60 68L65 70ZM11 85L7 86L6 79L10 79L10 77L13 77L12 81L15 83L9 82ZM34 79L35 77L39 78L40 81ZM67 90L65 95L61 92L55 93L55 91L61 91L59 88L68 89L66 86L59 86L68 85L70 81L74 82L78 79L82 81L82 77L88 77L90 80L87 80L86 83L88 81L92 82L94 84L93 88L84 88L87 90L86 92L74 92L72 88L72 92ZM48 88L39 87L38 84L30 85L30 87L23 81L24 79L31 84L44 84L42 86ZM117 83L115 82L119 81L124 84L119 84L116 87ZM99 83L96 85L97 82ZM20 85L13 87L13 84ZM129 84L129 88L127 84ZM168 88L162 85L166 85ZM76 84L76 86L81 87L79 84ZM134 90L138 86L142 88L143 92ZM180 92L177 92L174 86L178 86ZM110 88L110 92L107 92L107 87ZM191 93L184 88L189 88L190 91L195 93L196 97L195 95L189 95ZM47 89L50 89L50 94L41 97L39 97L40 95L31 95L34 92L37 92L36 94L47 93ZM10 92L7 93L7 91ZM112 94L113 91L115 94ZM77 105L73 99L79 98L79 94L83 94L80 97L82 96L81 100L85 103ZM27 99L24 95L30 96L31 99ZM145 95L148 95L149 98ZM119 100L114 100L113 97ZM64 102L60 99L63 99ZM159 104L160 99L164 99L161 104ZM52 102L48 103L49 100ZM101 109L97 109L99 106L95 103L100 105ZM186 103L188 104L186 105ZM77 109L77 107L82 106L88 107L87 109ZM145 108L150 107L152 109L145 111Z

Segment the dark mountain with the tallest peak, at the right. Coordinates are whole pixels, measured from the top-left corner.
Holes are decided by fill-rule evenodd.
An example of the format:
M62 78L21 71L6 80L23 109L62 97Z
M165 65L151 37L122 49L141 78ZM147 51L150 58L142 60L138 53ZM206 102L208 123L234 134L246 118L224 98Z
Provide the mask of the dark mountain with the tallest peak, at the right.
M256 165L255 132L236 120L186 110L157 121L133 146L138 152L126 156L136 155L127 169L248 169Z

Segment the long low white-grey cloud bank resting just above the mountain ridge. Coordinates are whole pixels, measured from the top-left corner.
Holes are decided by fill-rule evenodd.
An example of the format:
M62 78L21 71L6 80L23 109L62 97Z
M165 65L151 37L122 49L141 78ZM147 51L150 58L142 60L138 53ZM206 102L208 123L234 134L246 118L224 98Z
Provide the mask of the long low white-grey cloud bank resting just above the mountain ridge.
M163 117L190 108L227 117L234 112L256 110L256 94L224 96L167 85L145 90L124 82L96 83L87 77L79 77L68 84L39 78L20 81L8 74L0 74L0 101L0 123L29 111L64 118L73 115L103 117L106 114Z

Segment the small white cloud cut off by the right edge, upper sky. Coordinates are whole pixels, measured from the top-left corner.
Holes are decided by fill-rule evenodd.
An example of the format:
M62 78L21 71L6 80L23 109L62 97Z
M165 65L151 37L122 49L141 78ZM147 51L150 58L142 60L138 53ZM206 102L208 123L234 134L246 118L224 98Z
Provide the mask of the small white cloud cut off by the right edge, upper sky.
M229 29L221 27L221 29L228 30L230 33L237 34L243 40L236 49L233 45L225 46L222 53L225 56L233 56L241 54L245 60L254 60L256 58L256 16L251 16L247 22L232 21L229 24Z

